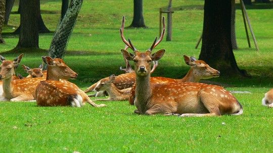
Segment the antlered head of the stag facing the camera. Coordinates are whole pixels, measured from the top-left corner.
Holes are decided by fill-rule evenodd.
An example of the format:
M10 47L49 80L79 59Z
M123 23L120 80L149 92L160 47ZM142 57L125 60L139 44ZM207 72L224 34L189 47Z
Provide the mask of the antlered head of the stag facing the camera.
M133 50L133 54L127 52L125 49L121 49L121 52L123 54L123 57L128 61L134 62L134 71L136 75L138 76L147 76L151 72L151 62L152 61L158 61L162 58L162 56L165 53L165 49L158 50L156 53L152 54L152 49L154 49L163 39L164 33L165 33L165 18L163 17L162 23L163 23L163 31L161 33L161 36L159 40L157 40L157 37L155 38L152 46L146 50L146 52L139 52L138 49L136 49L130 39L126 41L126 39L123 36L124 31L124 23L125 23L125 17L122 17L122 24L120 28L120 36L122 41Z

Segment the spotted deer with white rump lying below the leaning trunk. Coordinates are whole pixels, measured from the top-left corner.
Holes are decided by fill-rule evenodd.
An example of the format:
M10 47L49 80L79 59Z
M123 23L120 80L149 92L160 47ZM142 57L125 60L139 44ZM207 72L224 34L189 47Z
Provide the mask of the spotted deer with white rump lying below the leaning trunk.
M47 79L40 81L35 90L37 106L82 107L85 102L93 107L105 107L95 104L77 85L60 79L76 79L78 74L71 70L62 59L42 57L48 65Z

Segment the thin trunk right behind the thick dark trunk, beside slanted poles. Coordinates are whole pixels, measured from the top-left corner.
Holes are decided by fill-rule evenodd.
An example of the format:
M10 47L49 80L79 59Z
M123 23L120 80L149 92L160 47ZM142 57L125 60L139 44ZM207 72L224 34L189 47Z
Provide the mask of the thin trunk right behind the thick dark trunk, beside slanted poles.
M235 33L235 13L236 13L236 7L235 7L235 0L231 1L232 3L232 12L231 12L231 39L232 39L232 48L238 49L237 42L236 42L236 33Z

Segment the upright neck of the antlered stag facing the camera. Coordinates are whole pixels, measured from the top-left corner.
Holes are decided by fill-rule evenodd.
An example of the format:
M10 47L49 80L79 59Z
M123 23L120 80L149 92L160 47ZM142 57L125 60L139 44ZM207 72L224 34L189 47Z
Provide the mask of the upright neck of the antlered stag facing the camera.
M148 110L147 104L149 103L150 97L152 95L150 78L150 74L145 77L136 75L135 106L142 114L145 114L145 112Z

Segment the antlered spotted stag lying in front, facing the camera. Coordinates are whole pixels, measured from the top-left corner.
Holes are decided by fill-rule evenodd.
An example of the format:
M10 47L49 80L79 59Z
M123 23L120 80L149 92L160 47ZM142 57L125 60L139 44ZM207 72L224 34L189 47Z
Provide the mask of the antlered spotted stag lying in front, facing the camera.
M123 35L125 17L122 17L120 35ZM160 39L155 38L146 52L140 52L130 39L122 41L133 50L133 54L121 49L128 61L134 62L136 75L135 107L136 114L178 114L180 117L221 116L224 114L241 115L243 107L231 92L217 85L195 82L174 82L165 84L151 83L151 62L160 60L165 49L152 54L152 50L161 42L165 32L165 20Z

